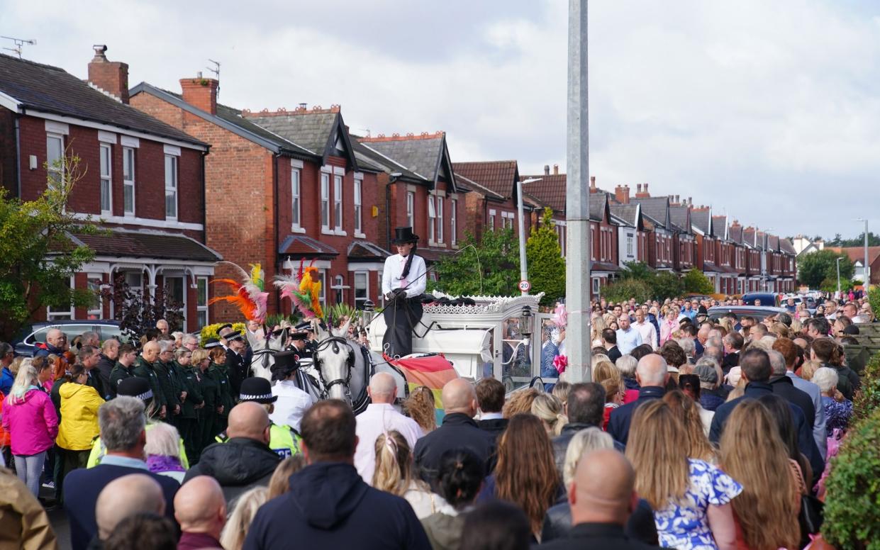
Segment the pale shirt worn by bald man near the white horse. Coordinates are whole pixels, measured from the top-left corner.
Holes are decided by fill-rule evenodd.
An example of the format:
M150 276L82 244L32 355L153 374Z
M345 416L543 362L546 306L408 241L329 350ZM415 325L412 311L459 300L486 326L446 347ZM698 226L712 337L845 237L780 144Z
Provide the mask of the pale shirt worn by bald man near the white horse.
M415 261L413 261L415 263ZM356 416L357 449L355 467L365 482L373 482L376 469L376 440L385 431L396 429L407 440L409 448L415 448L416 440L423 436L422 428L412 418L394 410L388 403L370 403L367 410Z

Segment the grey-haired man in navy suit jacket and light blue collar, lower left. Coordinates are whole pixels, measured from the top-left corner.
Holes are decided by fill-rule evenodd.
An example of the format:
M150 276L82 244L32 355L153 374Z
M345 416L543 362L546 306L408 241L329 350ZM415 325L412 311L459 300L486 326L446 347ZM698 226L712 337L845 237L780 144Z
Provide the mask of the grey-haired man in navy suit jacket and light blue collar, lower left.
M149 475L162 487L165 516L174 519L174 494L180 484L165 475L151 473L143 461L147 444L143 401L121 395L98 409L98 424L106 455L93 468L79 468L64 478L64 510L70 519L70 544L84 550L98 534L95 504L101 490L129 473Z

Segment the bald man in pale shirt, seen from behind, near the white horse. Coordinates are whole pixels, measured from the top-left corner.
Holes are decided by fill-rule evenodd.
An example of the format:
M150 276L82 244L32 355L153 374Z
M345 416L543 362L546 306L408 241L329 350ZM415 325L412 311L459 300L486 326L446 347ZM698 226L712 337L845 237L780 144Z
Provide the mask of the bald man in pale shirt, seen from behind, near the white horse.
M416 440L423 436L422 428L408 416L394 410L393 403L397 397L397 381L387 372L378 372L370 378L367 387L370 394L370 405L367 410L356 416L357 448L355 450L355 467L357 473L367 483L373 481L373 470L376 467L376 439L384 432L396 429L407 440L409 448L415 446Z

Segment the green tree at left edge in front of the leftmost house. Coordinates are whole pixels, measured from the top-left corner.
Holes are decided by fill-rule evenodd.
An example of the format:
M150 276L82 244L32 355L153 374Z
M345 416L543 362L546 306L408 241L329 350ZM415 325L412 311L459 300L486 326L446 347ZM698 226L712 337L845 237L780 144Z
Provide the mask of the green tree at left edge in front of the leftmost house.
M36 200L7 198L0 188L0 312L4 312L0 334L4 340L18 334L42 307L86 306L95 298L92 291L70 289L70 277L94 253L68 236L99 231L66 209L85 171L80 159L68 151L62 161L44 166L48 185Z

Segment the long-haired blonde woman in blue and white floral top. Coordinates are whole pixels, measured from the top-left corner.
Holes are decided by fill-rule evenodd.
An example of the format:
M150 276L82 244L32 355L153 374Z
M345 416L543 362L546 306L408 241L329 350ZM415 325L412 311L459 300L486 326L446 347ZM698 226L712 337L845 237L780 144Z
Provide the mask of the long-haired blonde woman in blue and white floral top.
M627 458L635 491L649 502L660 546L732 550L736 524L730 501L743 488L704 460L688 456L687 431L663 400L635 409Z

